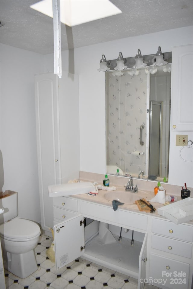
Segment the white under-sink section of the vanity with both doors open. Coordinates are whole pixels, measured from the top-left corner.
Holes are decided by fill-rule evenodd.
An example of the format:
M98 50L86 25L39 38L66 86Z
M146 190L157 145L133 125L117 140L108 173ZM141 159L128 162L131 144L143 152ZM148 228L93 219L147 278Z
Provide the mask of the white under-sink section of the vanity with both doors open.
M91 262L137 278L138 288L143 288L147 260L147 216L124 210L114 212L112 207L70 197L62 197L60 202L57 199L59 198L55 198L54 201L56 268L59 269L82 256ZM59 203L65 203L61 206L62 209L59 208ZM64 212L63 215L67 216L68 213L70 216L69 213L71 213L74 217L65 218L64 222L56 224L61 210ZM93 222L88 222L89 238L86 237L87 218L93 219ZM136 225L136 230L143 232L143 241L134 240L134 246L131 246L131 239L122 238L119 242L118 236L115 242L103 243L99 236L100 225L97 227L97 222L111 223L119 227L131 228L131 230L136 229L134 227Z

